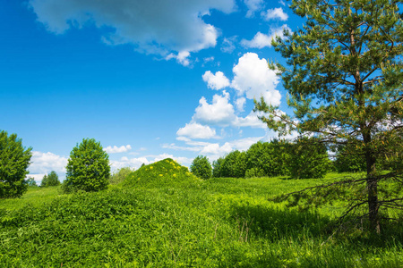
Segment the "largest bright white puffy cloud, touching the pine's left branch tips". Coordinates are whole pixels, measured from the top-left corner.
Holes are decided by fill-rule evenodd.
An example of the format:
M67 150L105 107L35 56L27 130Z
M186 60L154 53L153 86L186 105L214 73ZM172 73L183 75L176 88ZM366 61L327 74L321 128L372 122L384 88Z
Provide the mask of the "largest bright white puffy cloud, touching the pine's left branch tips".
M276 89L279 77L275 71L269 69L265 59L260 59L254 53L246 53L239 58L233 71L234 80L231 87L235 88L238 94L245 94L248 99L263 96L269 104L280 104L281 95Z

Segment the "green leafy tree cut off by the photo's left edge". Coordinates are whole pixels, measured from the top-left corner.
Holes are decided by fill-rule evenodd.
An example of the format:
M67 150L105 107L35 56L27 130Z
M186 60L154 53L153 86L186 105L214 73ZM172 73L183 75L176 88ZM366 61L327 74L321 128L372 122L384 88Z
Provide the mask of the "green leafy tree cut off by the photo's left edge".
M16 134L0 131L0 198L21 197L28 188L25 175L30 165L31 148L22 147Z

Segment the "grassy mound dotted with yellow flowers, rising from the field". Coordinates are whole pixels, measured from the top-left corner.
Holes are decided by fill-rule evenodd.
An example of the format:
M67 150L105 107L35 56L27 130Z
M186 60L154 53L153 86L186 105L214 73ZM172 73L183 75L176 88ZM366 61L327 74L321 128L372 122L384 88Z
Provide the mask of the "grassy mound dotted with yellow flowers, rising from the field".
M194 176L187 167L167 158L156 163L142 166L124 180L124 186L153 187L176 183L194 183L201 180Z

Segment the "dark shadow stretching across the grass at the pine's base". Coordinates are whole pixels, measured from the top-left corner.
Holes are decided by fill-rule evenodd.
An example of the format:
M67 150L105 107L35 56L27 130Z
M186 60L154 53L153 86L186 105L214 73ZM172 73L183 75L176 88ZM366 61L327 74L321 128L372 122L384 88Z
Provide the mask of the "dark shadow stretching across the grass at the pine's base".
M350 226L335 233L339 228L336 220L315 212L299 212L296 208L234 204L231 206L231 215L240 233L244 232L246 235L245 232L249 231L270 241L313 238L324 242L331 236L336 239L334 241L348 241L351 246L403 247L403 220L383 224L381 234L374 234L364 228L364 225Z

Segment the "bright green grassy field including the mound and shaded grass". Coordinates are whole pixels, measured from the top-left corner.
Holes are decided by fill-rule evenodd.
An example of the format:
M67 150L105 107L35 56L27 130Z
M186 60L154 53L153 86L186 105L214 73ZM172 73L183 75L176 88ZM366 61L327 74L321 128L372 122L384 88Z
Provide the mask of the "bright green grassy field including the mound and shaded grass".
M202 181L167 164L98 193L30 188L20 199L0 200L0 266L403 266L402 231L329 239L337 202L301 213L268 201L339 174Z

